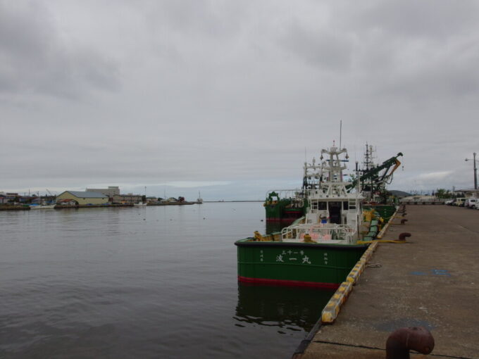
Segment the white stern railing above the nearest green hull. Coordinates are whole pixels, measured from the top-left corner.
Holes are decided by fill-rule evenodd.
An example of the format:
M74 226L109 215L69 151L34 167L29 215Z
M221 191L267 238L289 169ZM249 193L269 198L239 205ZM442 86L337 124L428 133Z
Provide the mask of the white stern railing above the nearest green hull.
M313 241L347 241L352 243L355 229L349 225L335 225L330 223L307 225L297 224L285 227L281 231L281 238L286 241L304 241L304 236L309 234Z

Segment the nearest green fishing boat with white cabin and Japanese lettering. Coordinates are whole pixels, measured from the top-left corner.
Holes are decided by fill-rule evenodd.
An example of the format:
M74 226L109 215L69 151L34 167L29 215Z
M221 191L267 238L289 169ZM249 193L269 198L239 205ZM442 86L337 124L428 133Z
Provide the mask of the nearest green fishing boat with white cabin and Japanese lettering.
M304 164L306 214L281 232L235 242L239 282L335 289L344 281L381 225L372 210L363 220L361 181L343 180L348 158L334 144L323 149L318 163Z

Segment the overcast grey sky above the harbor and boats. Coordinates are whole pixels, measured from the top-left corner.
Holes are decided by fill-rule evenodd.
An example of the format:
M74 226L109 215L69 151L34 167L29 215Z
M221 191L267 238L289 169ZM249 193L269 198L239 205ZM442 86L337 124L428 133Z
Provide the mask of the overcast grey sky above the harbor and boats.
M478 110L478 1L0 0L0 191L262 199L340 120L390 189L471 188Z

